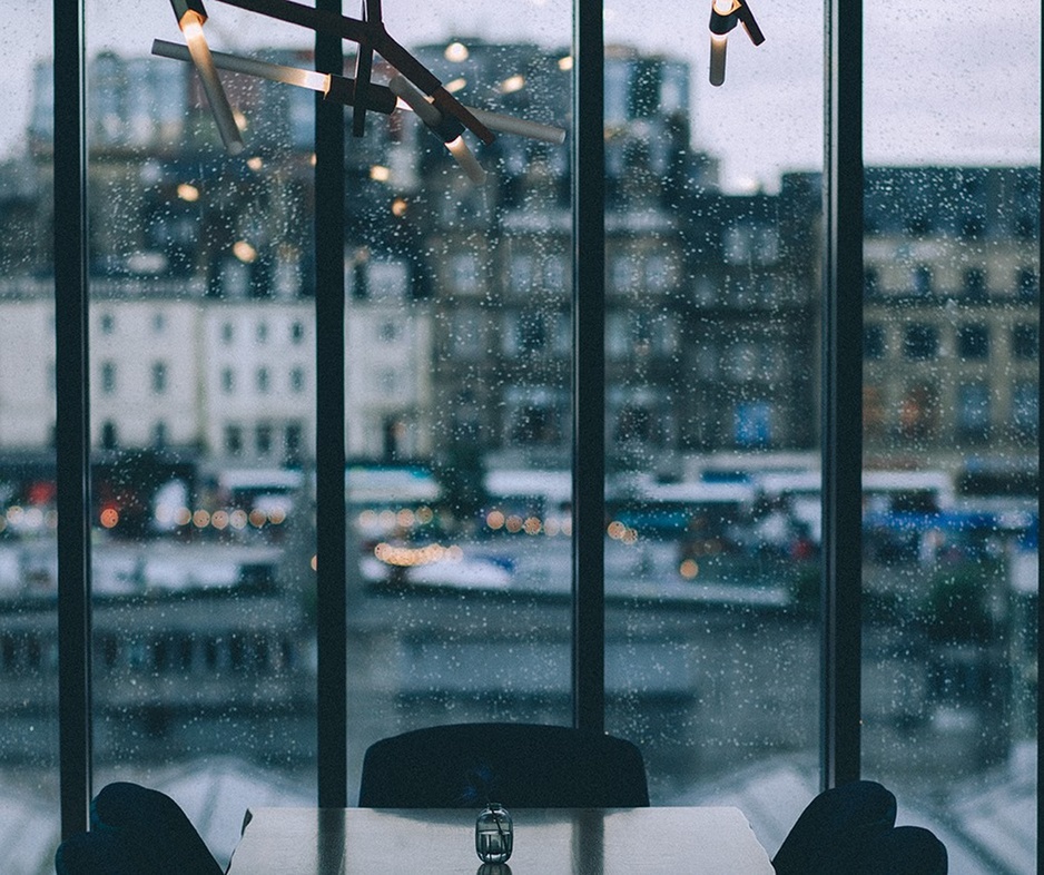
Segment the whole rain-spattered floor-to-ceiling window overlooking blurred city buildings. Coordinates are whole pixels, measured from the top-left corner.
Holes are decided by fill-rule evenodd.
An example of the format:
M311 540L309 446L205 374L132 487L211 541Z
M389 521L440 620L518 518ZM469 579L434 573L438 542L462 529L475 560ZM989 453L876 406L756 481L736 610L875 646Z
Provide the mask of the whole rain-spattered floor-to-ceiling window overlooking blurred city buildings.
M962 865L1004 859L1032 871L1024 837L1034 824L1023 829L1004 806L996 822L1022 832L1002 845L1002 827L976 828L973 813L987 792L999 790L991 805L1007 798L1013 775L1021 808L1032 807L1036 593L1025 568L1036 548L1032 532L1009 527L1034 518L1035 499L963 490L968 472L984 470L1038 481L1037 8L998 29L964 0L928 4L914 28L903 10L867 4L855 27L828 35L865 38L853 81L821 69L823 8L795 7L782 30L762 20L765 47L738 39L726 88L711 89L706 46L692 39L706 39L706 21L689 21L692 10L594 4L610 47L602 126L595 96L574 94L565 71L570 4L526 2L519 14L492 2L485 21L472 21L482 39L466 62L439 45L460 23L443 0L421 17L385 12L441 80L466 80L462 99L568 122L564 148L509 136L476 148L490 179L470 186L410 116L368 114L366 136L331 156L331 128L344 132L351 114L319 102L316 142L313 96L259 81L232 97L246 155L262 160L226 156L191 69L148 56L128 33L127 20L138 37L169 33L169 3L86 0L83 252L71 237L62 252L49 232L76 226L68 210L80 186L67 179L51 203L47 185L76 164L72 131L53 129L53 108L68 110L79 92L68 78L80 67L68 55L48 60L52 4L10 17L0 37L13 73L0 97L10 120L0 132L0 640L11 643L0 652L39 669L19 684L0 677L4 700L36 697L33 733L3 717L0 771L18 788L66 786L55 743L38 740L59 737L49 653L53 641L69 645L55 636L53 606L76 607L72 590L55 584L69 582L70 563L48 520L81 513L95 560L89 773L98 783L166 775L178 750L186 779L201 786L235 755L246 764L237 769L293 797L280 804L317 795L336 804L329 787L351 798L347 764L382 735L461 719L568 724L575 710L642 747L657 804L736 799L770 847L780 827L749 800L774 779L810 795L820 755L834 763L831 739L855 724L856 771L893 785L913 820L945 824ZM311 35L226 6L208 7L215 50L247 46L312 66ZM844 3L831 10L848 13ZM926 52L925 33L972 48ZM575 61L600 51L581 47ZM954 58L983 75L955 72ZM498 83L514 67L531 71L529 85L504 94ZM824 81L838 83L845 118L865 96L865 130L841 126L826 160L823 107L834 104ZM853 137L867 165L866 240L850 199L821 197L835 167L841 183L857 179L840 160ZM589 160L595 144L604 166ZM570 167L573 148L581 160ZM388 178L372 179L374 166ZM348 199L333 203L342 181ZM838 213L824 214L824 203ZM316 245L313 233L331 239ZM157 269L157 254L167 268ZM68 304L70 255L89 266L86 313ZM514 275L515 255L532 256L528 275L521 266ZM294 265L301 283L286 282L280 265ZM70 276L72 285L61 279ZM334 306L342 276L349 319ZM821 292L835 281L831 314ZM56 296L66 302L57 308ZM157 308L161 334L150 331ZM77 316L97 332L92 380L68 344L56 350L53 333L27 330L55 318L68 336ZM287 360L294 321L299 345ZM397 338L382 336L385 324L398 326ZM983 326L983 337L962 336L963 325ZM343 367L323 354L342 328L351 335ZM604 341L604 358L592 338ZM860 341L865 368L851 360ZM835 348L838 367L820 361ZM57 419L43 387L56 355ZM302 365L304 391L292 375L312 361L318 407L312 365ZM166 364L161 399L148 393L154 362ZM264 394L259 368L270 372ZM385 373L402 377L394 399L382 392ZM821 395L830 376L851 414L836 431L820 422L834 410ZM88 436L68 429L70 382L90 392ZM168 449L150 451L160 422ZM346 470L327 458L342 449ZM79 481L93 485L90 503L58 513L37 460L66 472L88 458L97 468ZM820 493L836 492L809 486L834 462L856 475L843 501L858 498L865 469L867 503L854 523L820 519ZM940 518L903 494L922 486ZM16 499L21 514L9 515ZM992 510L971 512L982 508ZM35 520L39 528L14 531ZM324 556L341 554L332 543L349 548L343 569L324 568ZM462 561L427 561L439 551L424 548L436 543L459 548ZM378 544L424 563L386 561ZM164 562L168 550L175 558ZM858 665L820 661L829 655L820 574L848 579L827 557L857 566L861 617L844 598L837 613L863 620ZM574 568L575 598L604 617L604 635L583 626L572 635ZM338 611L345 592L363 610ZM38 638L31 648L26 629ZM360 668L342 677L358 707L346 711L339 750L329 736L315 741L318 697L337 685L316 676L332 660L314 655L329 657L331 641L347 648L342 671ZM274 677L277 652L297 658ZM861 691L856 719L828 712L823 734L820 666L841 695ZM181 698L156 707L165 696ZM63 753L75 746L60 737ZM290 789L273 780L277 771ZM829 766L825 775L836 777ZM19 810L57 810L58 792L27 792ZM66 794L63 807L75 814L85 795ZM7 863L0 848L0 871ZM48 865L33 861L31 871Z

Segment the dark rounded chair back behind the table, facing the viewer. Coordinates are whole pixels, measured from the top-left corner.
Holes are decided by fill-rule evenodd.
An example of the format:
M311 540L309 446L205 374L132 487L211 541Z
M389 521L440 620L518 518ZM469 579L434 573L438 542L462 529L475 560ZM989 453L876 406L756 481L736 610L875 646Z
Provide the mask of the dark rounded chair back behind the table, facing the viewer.
M649 805L641 751L564 726L459 724L371 745L364 808L632 808Z

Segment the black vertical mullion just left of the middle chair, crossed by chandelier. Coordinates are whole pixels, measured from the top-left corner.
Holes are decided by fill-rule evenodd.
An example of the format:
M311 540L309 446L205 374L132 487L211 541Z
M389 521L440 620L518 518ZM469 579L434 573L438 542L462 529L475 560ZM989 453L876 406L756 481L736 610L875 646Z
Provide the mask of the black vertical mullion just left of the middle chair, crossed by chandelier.
M341 14L341 0L316 0ZM343 72L341 37L316 32L316 69ZM344 112L316 96L316 649L318 804L347 805L347 549L344 508Z

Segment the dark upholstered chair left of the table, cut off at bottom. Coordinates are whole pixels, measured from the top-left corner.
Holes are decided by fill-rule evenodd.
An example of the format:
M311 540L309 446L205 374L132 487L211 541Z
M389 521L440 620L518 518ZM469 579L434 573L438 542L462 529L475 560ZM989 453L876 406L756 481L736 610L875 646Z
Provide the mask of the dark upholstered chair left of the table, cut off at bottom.
M137 784L109 784L90 804L90 832L55 855L58 875L221 875L178 804Z

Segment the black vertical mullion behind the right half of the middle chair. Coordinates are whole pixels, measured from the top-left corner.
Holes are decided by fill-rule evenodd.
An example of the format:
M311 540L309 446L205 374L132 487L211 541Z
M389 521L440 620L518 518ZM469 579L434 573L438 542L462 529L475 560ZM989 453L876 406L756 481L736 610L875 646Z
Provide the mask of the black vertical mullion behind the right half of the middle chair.
M602 0L573 6L573 724L605 724L605 223Z

